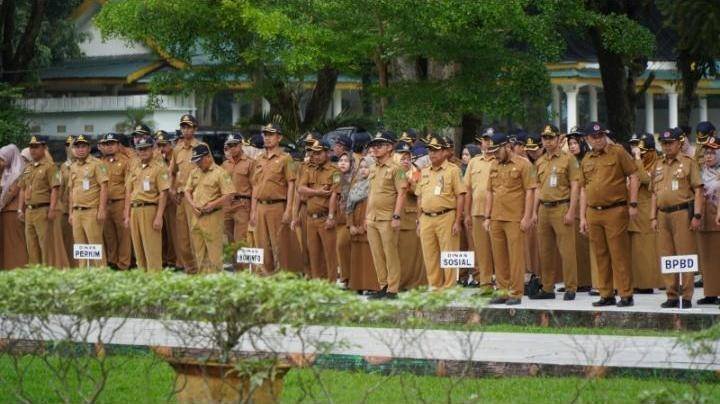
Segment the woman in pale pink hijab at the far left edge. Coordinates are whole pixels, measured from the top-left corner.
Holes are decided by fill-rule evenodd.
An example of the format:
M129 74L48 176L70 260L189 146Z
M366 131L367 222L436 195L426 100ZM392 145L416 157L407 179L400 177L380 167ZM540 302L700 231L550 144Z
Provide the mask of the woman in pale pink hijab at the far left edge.
M0 148L0 269L27 265L25 227L18 219L18 179L25 171L25 159L14 144Z

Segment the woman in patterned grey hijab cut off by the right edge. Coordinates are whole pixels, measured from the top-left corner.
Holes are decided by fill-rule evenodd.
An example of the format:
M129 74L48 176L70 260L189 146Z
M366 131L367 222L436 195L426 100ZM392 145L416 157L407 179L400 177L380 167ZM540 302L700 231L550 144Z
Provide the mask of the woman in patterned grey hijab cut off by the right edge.
M703 274L703 292L705 297L697 304L720 303L720 143L710 138L704 146L702 180L705 204L702 212L702 225L698 236L700 268Z

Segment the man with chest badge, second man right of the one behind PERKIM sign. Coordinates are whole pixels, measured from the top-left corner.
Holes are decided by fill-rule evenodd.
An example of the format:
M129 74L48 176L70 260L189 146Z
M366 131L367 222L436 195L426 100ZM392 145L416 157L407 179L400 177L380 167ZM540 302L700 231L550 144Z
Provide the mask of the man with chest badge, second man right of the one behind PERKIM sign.
M162 269L163 212L170 188L167 166L153 158L152 138L140 139L135 149L139 164L126 180L125 228L130 228L138 268Z

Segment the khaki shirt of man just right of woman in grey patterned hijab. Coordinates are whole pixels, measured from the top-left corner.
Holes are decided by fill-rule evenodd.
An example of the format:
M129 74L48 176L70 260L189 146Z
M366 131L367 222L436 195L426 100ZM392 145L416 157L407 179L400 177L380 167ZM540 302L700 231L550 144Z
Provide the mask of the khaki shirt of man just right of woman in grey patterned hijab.
M370 169L368 180L370 190L365 217L372 221L392 220L395 199L407 188L405 171L390 158L385 164L375 164Z

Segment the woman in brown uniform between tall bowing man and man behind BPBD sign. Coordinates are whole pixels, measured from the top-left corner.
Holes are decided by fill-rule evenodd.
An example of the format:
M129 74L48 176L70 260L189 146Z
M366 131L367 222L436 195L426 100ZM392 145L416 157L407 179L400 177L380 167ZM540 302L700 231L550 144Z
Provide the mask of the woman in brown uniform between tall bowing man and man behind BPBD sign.
M651 134L633 135L630 145L640 180L638 215L631 218L628 225L633 285L635 293L653 293L654 288L663 287L658 268L657 232L650 225L650 175L657 161L655 138Z

